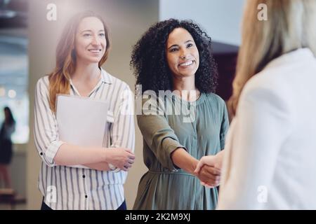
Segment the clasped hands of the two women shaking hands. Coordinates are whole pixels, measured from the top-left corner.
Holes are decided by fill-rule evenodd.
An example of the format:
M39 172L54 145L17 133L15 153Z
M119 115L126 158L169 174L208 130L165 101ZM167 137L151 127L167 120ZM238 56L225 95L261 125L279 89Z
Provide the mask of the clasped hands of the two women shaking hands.
M222 168L223 151L216 155L207 155L201 158L194 171L201 184L208 188L215 188L220 184L220 172Z

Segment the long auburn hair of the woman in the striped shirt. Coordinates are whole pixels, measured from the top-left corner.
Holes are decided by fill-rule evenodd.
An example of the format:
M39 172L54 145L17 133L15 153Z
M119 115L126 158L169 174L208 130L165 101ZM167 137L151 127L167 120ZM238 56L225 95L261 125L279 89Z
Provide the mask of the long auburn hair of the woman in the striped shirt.
M56 48L56 65L52 73L48 75L49 79L49 106L51 111L55 112L55 102L57 94L70 94L70 75L74 73L76 68L76 54L74 51L74 40L79 27L79 23L84 18L95 17L103 22L105 30L105 39L107 45L105 48L105 54L100 59L98 66L107 60L107 56L110 52L110 36L109 30L100 15L97 15L93 11L84 11L74 15L62 31L62 36L58 42Z

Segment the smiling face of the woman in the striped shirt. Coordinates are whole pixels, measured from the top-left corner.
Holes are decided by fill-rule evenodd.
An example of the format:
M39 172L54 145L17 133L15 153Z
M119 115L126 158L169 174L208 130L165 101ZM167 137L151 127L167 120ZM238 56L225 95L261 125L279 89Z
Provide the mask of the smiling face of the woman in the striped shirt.
M95 17L87 17L81 20L74 45L76 57L81 62L100 62L107 46L103 22Z

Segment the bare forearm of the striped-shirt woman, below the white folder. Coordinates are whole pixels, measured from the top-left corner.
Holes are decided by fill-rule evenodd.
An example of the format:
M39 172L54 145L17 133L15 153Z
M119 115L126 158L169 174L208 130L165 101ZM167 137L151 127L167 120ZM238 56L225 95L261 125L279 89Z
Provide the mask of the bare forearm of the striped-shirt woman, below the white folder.
M107 150L98 147L82 147L62 144L58 149L54 161L56 165L91 165L106 162Z

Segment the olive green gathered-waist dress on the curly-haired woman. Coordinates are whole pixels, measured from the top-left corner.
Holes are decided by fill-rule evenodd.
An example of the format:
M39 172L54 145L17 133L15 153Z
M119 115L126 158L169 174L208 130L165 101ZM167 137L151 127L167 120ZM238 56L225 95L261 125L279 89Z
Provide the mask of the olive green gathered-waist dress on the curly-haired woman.
M222 150L229 126L225 102L216 94L202 93L196 102L172 95L164 104L151 106L153 101L144 99L143 115L137 117L149 171L140 179L133 209L215 209L218 189L206 188L197 177L178 169L171 153L185 148L199 160ZM158 114L151 114L152 109Z

